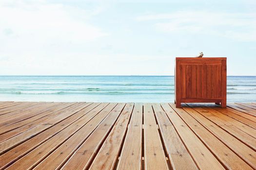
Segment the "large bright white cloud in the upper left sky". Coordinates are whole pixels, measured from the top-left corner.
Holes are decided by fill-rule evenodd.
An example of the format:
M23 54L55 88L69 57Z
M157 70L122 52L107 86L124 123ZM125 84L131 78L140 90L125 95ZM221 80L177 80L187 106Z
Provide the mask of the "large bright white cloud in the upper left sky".
M107 35L89 23L100 8L78 7L40 1L1 1L0 45L3 51L44 45L85 43ZM20 48L19 48L20 47Z

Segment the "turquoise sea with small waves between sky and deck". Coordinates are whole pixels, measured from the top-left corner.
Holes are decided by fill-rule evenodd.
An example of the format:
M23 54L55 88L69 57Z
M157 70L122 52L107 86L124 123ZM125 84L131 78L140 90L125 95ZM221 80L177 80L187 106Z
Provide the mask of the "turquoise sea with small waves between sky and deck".
M174 102L174 76L0 76L0 101ZM227 102L255 102L256 76L228 76Z

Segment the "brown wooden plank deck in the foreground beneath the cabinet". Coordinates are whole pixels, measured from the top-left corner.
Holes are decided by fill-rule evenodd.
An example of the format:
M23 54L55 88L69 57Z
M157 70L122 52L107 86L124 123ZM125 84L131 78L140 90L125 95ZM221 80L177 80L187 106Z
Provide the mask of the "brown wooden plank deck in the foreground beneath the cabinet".
M0 169L256 169L256 103L182 106L0 102Z

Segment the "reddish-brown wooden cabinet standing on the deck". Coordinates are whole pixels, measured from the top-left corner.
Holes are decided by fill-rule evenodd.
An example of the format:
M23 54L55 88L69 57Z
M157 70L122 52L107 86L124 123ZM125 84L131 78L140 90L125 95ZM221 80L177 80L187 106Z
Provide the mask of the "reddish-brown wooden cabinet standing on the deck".
M177 57L175 102L216 102L226 107L226 57Z

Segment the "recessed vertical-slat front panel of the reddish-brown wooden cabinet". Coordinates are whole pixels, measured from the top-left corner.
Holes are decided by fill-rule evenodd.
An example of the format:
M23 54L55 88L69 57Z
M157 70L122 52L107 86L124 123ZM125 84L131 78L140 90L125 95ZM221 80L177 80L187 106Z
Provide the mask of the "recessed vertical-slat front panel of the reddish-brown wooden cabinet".
M181 64L181 98L221 98L221 64Z

